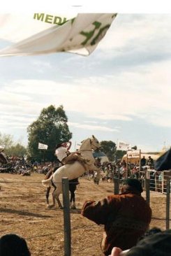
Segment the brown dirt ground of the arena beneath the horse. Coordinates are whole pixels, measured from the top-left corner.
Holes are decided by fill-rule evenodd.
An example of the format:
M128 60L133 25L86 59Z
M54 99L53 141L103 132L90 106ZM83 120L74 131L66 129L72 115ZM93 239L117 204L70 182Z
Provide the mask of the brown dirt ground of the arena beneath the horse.
M0 236L8 233L23 236L32 256L61 256L64 255L64 213L57 207L47 209L43 178L38 173L31 176L0 173ZM100 248L103 225L82 217L80 210L85 200L102 199L113 191L113 183L95 185L93 180L80 178L75 192L77 211L70 211L73 256L103 255ZM145 197L145 192L142 195ZM165 229L165 204L165 194L150 193L151 227Z

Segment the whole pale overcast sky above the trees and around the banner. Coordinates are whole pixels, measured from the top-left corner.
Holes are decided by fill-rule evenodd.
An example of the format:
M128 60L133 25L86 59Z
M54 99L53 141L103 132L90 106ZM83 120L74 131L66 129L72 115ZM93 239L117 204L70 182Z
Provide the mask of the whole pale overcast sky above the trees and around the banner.
M73 147L92 134L144 152L171 145L170 31L171 14L118 13L88 57L0 57L0 132L27 145L52 104L64 106Z

